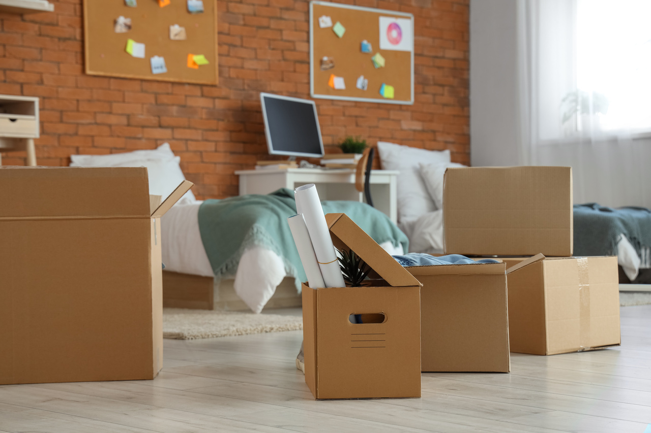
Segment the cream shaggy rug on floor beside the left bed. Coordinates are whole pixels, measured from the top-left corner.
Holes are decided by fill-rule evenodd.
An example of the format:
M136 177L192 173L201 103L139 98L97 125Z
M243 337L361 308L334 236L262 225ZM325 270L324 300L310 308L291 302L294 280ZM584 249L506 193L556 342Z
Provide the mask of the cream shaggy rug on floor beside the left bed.
M193 340L303 329L303 317L163 308L163 338Z

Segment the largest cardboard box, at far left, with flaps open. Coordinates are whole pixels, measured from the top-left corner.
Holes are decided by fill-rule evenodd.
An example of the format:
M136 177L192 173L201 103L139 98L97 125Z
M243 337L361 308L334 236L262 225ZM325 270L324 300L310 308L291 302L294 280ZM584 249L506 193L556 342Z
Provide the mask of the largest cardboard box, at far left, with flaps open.
M159 217L192 183L159 206L146 168L0 168L0 185L0 384L154 378Z

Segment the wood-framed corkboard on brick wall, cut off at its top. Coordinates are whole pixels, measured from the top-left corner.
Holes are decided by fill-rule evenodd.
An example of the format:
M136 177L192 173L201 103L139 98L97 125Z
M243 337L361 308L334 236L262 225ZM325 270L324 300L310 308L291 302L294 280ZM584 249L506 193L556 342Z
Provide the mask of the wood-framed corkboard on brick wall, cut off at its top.
M132 1L132 0L130 0ZM113 77L217 84L217 0L203 0L204 12L191 14L186 0L84 0L86 73ZM131 19L131 28L116 33L118 17ZM186 29L185 40L171 40L170 26ZM145 57L133 57L125 48L129 39L145 44ZM188 54L204 55L208 64L188 66ZM165 59L167 72L152 72L150 59Z

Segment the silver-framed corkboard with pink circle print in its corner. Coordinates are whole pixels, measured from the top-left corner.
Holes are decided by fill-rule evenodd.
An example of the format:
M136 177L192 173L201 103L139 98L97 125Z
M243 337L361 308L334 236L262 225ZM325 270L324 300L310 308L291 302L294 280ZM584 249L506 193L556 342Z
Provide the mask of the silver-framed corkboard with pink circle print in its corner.
M320 18L329 20L320 21ZM387 22L398 29L389 34L399 46L387 47ZM340 26L337 26L337 23ZM397 24L402 26L397 27ZM383 27L384 26L384 27ZM337 31L345 29L341 37ZM310 89L312 98L342 99L395 104L413 104L413 15L393 10L357 7L313 0L310 3ZM384 37L383 37L384 36ZM392 38L393 36L393 38ZM363 52L363 41L370 50ZM380 53L384 66L376 68L372 58ZM324 59L325 58L325 59ZM339 88L333 75L340 77ZM357 88L363 75L366 90ZM343 83L342 83L343 81ZM344 88L340 88L341 85ZM391 86L392 94L381 94L382 85ZM393 97L393 98L392 98Z

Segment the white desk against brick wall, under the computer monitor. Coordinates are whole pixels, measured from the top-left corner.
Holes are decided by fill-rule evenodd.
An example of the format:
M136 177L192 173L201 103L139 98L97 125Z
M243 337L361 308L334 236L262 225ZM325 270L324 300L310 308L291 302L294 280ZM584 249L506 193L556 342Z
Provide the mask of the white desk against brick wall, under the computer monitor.
M269 194L279 188L294 189L306 183L314 183L321 200L353 200L364 202L364 194L355 189L355 170L322 170L321 168L288 168L286 170L241 170L240 195ZM370 195L373 205L391 218L398 220L396 181L398 172L372 170Z

